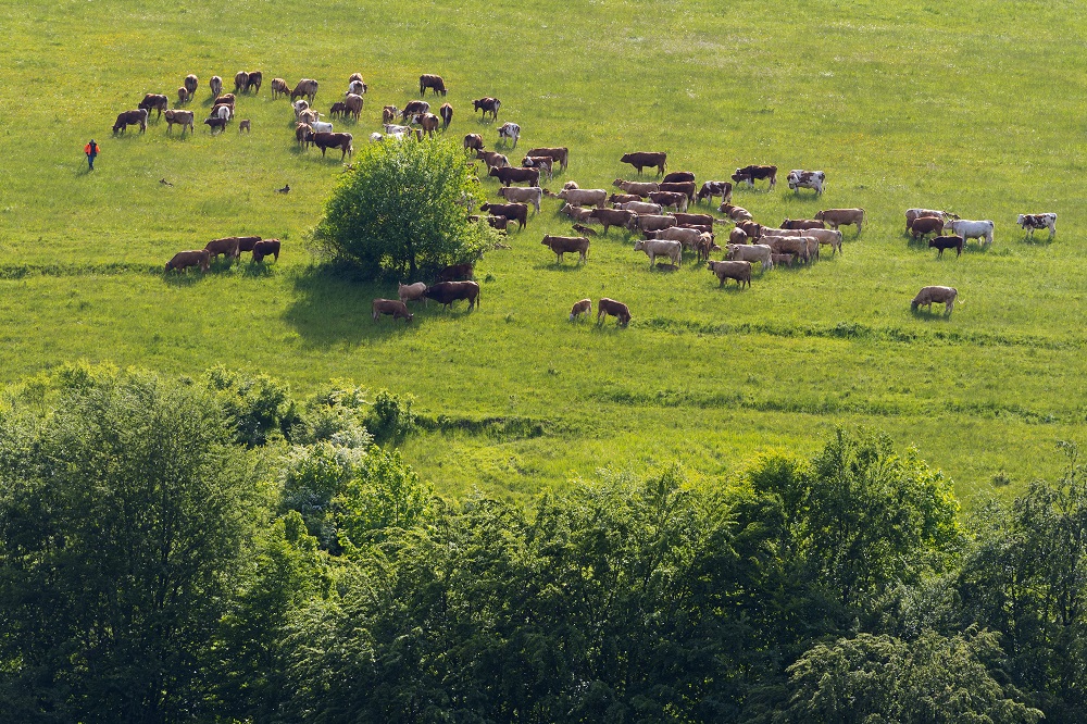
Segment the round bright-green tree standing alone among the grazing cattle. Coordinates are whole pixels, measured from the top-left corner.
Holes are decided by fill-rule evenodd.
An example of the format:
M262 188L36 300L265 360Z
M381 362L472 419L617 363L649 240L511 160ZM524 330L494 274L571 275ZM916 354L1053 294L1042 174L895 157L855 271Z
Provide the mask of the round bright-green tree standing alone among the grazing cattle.
M355 157L325 205L317 241L335 258L414 279L473 259L490 235L468 221L477 184L463 151L441 139L373 143Z

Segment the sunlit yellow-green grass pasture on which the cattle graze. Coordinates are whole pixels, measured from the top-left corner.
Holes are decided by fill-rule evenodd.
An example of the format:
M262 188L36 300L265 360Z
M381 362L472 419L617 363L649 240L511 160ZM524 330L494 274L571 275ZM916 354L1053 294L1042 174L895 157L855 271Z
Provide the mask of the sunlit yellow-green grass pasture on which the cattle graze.
M1053 474L1054 442L1083 441L1083 3L26 0L5 11L0 382L87 359L186 375L223 363L301 392L336 377L410 392L435 424L405 454L448 494L521 495L672 460L713 476L866 425L917 446L970 499ZM252 134L235 123L211 136L199 125L208 79L230 90L235 72L258 68L264 88L237 104ZM570 224L545 200L511 249L477 264L478 310L432 305L411 327L375 324L370 300L396 289L329 274L308 246L339 157L298 149L287 101L270 95L273 77L313 77L327 112L353 72L370 85L363 117L336 127L357 148L384 104L402 108L418 75L437 73L458 142L482 133L495 148L496 124L471 105L490 95L499 122L522 127L511 160L570 147L555 190L610 187L634 177L624 152L666 150L670 170L699 182L776 164L775 191L735 194L757 221L863 207L869 224L847 228L842 255L755 273L740 291L719 289L691 257L650 272L619 230L592 239L587 265L559 267L540 239ZM195 134L167 136L152 120L146 135L111 137L145 92L173 107L187 73L201 84ZM91 137L102 153L88 173ZM789 168L824 170L825 196L789 191ZM276 195L285 183L290 195ZM991 219L995 244L937 260L903 234L910 207ZM1016 214L1048 211L1057 240L1025 241ZM249 234L280 238L279 263L162 274L175 251ZM929 284L959 289L951 320L910 312ZM603 296L629 304L629 328L566 322L574 301ZM1011 486L994 487L999 471Z

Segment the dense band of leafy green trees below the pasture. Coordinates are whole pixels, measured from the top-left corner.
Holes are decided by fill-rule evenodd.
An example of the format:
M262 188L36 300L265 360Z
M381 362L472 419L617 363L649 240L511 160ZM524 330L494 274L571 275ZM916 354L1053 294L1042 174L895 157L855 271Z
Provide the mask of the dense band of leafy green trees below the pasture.
M11 722L1087 721L1087 475L882 435L436 497L409 400L72 365L0 402ZM380 444L375 445L375 442Z

